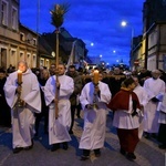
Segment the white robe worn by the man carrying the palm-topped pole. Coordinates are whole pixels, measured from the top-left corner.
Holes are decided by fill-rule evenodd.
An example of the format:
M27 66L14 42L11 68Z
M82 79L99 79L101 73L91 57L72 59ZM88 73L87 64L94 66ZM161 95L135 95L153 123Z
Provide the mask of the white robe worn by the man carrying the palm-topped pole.
M55 120L55 104L52 102L55 98L55 76L51 76L45 86L44 95L45 103L49 105L49 144L56 144L71 141L69 128L71 125L71 103L70 95L74 91L73 79L68 75L60 75L59 90L59 117Z

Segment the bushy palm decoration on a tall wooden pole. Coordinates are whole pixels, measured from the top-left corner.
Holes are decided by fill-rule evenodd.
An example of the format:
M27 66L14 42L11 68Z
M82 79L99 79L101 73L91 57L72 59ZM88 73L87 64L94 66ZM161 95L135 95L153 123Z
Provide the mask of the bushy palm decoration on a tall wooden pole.
M55 64L56 70L59 65L59 33L60 33L60 27L64 22L64 14L69 11L69 3L64 4L54 4L54 9L51 10L51 23L56 28L56 54L55 54ZM56 82L59 81L58 73L56 73ZM55 91L55 118L59 117L59 107L58 107L58 96L59 96L59 90Z

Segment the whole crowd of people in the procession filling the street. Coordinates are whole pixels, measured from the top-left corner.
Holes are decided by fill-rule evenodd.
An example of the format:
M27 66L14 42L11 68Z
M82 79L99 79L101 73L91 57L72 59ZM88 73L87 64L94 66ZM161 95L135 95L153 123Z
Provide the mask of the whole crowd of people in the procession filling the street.
M95 74L95 71L98 73ZM20 74L21 73L21 77ZM134 151L142 136L156 138L166 149L166 76L160 70L124 74L120 68L108 73L68 69L51 64L50 69L29 69L25 61L6 71L0 69L0 125L12 127L13 153L33 147L44 117L51 152L69 148L75 115L84 115L79 148L81 160L91 151L101 156L104 146L107 111L113 113L120 153L136 159Z

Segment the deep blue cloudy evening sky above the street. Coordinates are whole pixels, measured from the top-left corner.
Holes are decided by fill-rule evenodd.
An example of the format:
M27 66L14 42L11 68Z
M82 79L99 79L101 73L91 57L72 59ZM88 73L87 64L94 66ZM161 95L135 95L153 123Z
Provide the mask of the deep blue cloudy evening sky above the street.
M40 12L38 12L40 2ZM20 21L23 25L40 33L52 32L50 10L53 4L64 1L20 0ZM112 64L121 60L128 64L132 30L142 34L143 3L145 0L70 0L71 7L62 27L72 37L82 39L89 56L98 58ZM39 17L39 23L37 23ZM127 21L127 27L121 22ZM91 45L93 43L93 46ZM116 51L115 53L113 51Z

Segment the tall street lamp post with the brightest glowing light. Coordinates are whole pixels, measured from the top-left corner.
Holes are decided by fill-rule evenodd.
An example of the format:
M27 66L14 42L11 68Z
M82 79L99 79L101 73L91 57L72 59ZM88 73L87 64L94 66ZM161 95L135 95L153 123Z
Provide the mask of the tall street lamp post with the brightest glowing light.
M133 40L134 39L134 28L132 25L128 25L126 21L122 21L121 25L122 27L131 27L131 30L132 30L132 32L131 32L131 58L129 58L132 60L133 59L133 50L134 50L134 40ZM129 63L132 64L131 60L129 60Z

